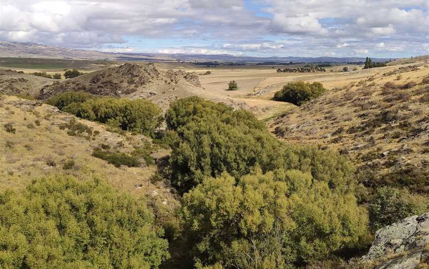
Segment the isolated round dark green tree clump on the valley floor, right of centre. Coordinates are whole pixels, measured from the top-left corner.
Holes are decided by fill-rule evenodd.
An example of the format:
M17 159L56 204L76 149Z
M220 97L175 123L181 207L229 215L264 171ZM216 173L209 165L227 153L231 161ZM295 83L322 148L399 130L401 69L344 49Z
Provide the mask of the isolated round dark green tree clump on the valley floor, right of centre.
M285 101L297 106L322 95L326 89L320 82L289 82L274 94L274 100Z

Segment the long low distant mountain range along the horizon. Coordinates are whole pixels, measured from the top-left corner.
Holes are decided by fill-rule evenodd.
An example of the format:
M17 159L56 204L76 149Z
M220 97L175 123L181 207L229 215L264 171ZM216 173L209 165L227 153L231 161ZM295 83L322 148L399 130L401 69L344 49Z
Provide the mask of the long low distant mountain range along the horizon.
M360 57L252 57L233 56L229 54L148 54L148 53L111 53L95 50L71 49L47 46L35 43L0 41L0 57L33 57L33 58L71 58L99 59L117 61L185 61L185 62L235 62L235 63L350 63L364 62ZM385 62L389 59L372 59L375 62Z

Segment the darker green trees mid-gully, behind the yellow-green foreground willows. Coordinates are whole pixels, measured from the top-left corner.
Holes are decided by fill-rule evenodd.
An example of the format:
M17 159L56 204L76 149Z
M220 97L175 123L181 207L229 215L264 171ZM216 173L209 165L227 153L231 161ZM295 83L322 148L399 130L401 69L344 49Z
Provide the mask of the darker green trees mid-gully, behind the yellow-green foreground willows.
M167 170L182 192L206 177L226 171L238 179L254 167L299 169L332 186L353 177L353 167L338 153L287 146L247 111L191 97L171 104L166 122L174 131Z

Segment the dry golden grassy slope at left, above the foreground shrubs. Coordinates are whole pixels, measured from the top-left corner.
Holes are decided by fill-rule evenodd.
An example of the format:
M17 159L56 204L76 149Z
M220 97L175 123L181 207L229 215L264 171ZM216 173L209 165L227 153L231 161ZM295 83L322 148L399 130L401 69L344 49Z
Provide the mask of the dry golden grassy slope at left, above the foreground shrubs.
M6 124L11 128L7 129ZM150 182L156 167L144 160L139 167L115 167L92 156L100 145L123 153L150 147L150 139L143 135L112 133L107 126L76 118L56 107L1 95L0 137L0 190L20 190L33 178L71 174L82 179L98 176L137 196L175 201L162 182ZM155 161L165 155L165 150L156 146L148 150Z

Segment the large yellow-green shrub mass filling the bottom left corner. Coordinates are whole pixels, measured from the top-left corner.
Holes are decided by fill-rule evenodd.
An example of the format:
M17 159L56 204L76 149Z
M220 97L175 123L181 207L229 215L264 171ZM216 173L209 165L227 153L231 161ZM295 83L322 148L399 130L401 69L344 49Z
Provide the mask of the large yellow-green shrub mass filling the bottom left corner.
M0 195L1 268L157 268L168 258L152 213L100 180L34 180Z

